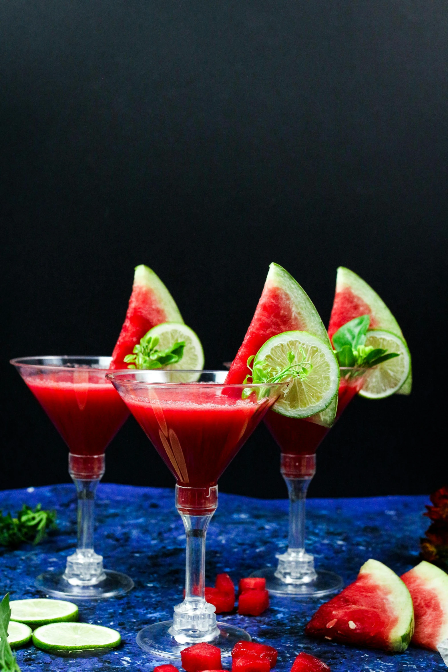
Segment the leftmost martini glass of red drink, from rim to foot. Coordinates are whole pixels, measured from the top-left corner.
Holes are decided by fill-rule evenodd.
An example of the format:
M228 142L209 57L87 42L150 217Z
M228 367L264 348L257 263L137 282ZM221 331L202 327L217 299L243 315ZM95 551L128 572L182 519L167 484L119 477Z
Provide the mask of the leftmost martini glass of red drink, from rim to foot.
M25 357L11 360L69 446L69 474L78 497L77 549L64 573L45 572L36 585L54 597L89 599L124 595L134 581L103 569L93 550L95 491L105 470L105 449L129 416L106 380L110 357Z

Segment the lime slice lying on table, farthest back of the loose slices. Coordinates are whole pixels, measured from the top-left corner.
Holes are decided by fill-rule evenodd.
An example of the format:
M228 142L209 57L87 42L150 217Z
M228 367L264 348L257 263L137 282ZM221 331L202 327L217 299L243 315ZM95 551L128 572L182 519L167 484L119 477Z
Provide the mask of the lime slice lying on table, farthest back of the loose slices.
M26 623L33 630L47 623L78 620L77 605L62 599L13 599L9 606L11 621Z

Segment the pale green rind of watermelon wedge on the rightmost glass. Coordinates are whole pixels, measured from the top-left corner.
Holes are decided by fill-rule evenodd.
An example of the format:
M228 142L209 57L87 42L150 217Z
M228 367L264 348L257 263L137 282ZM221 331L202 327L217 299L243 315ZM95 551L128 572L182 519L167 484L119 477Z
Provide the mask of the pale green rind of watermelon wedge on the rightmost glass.
M384 303L382 298L371 288L365 280L360 278L356 273L351 271L345 266L339 266L337 269L336 277L336 296L339 292L342 292L345 289L351 289L355 296L361 298L361 300L369 306L369 314L371 315L371 329L384 329L385 331L391 331L396 336L400 336L404 339L403 332L400 329L400 325L394 318L392 312L390 312L388 306ZM333 312L330 317L330 325L328 326L328 333L330 338L332 335L342 327L342 325L334 325L332 323ZM359 317L358 315L351 315L349 319L354 317ZM407 345L407 343L406 343ZM408 378L400 389L395 392L395 394L410 394L412 390L412 367L409 368Z

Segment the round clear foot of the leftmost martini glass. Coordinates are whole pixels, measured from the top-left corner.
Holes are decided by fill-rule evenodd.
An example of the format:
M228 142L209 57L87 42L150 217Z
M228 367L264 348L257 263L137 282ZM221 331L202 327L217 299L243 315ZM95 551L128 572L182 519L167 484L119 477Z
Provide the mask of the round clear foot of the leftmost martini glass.
M34 582L38 589L52 597L69 599L107 599L126 595L134 588L134 581L126 574L105 569L105 579L94 585L72 585L63 574L44 572Z

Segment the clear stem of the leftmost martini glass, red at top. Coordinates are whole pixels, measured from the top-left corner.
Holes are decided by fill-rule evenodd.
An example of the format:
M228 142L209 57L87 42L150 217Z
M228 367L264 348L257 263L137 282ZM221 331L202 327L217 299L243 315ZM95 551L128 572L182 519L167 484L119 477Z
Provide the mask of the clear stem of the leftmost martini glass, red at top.
M92 459L98 463L94 471L91 470ZM67 558L64 573L64 579L71 585L95 585L105 579L103 556L93 550L95 493L104 473L104 465L103 455L69 456L69 473L75 483L78 497L77 549Z

